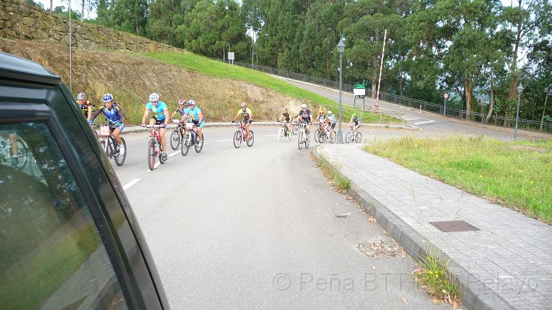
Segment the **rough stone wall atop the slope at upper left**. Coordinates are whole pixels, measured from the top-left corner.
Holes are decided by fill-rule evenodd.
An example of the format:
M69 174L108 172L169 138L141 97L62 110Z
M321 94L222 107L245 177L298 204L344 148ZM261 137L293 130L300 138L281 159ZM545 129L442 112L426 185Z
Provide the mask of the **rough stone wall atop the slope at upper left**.
M81 50L180 50L144 37L74 20L71 21L71 32L71 45ZM69 20L30 6L23 0L1 0L0 37L69 45Z

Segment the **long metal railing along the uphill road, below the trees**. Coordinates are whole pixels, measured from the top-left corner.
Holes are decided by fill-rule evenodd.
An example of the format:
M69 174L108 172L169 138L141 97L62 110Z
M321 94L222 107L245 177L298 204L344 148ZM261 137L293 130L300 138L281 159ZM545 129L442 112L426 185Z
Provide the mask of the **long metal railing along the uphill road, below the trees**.
M215 61L222 61L221 59L214 59ZM301 73L295 73L290 72L286 70L281 70L277 68L271 68L266 67L264 65L255 65L251 63L241 63L238 61L234 61L235 65L239 65L241 67L262 71L268 74L273 74L277 76L282 76L288 79L293 79L297 81L303 81L307 83L313 83L320 86L325 87L331 87L336 90L339 90L339 83L336 81L331 81L327 79L317 78L315 76L308 76L306 74ZM353 89L355 88L355 85L350 84L342 84L342 90L344 92L353 92ZM372 96L372 90L366 89L366 97ZM432 112L435 114L440 114L443 116L449 116L453 118L462 119L464 121L472 121L475 123L485 123L486 119L486 113L479 113L479 112L470 112L469 115L465 110L456 109L453 107L447 107L446 111L444 111L443 105L437 105L435 103L431 103L428 101L422 101L417 99L408 98L405 96L400 96L396 94L389 94L386 92L380 92L380 101L385 101L388 103L396 103L398 105L404 105L405 107L413 107L413 108L421 108L422 110L426 112ZM492 115L489 118L489 121L486 122L488 125L495 125L495 126L501 126L501 127L515 127L515 118L510 118L507 116L497 116ZM518 119L517 120L517 127L518 128L524 128L526 130L533 130L533 131L540 131L540 121L532 121L528 119ZM542 132L549 132L552 133L552 123L543 123L542 124Z

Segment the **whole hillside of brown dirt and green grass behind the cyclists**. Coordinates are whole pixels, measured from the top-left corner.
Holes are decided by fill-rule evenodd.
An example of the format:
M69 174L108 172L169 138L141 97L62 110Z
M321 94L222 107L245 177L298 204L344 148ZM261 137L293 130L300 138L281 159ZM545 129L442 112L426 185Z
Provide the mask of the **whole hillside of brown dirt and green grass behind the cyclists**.
M41 63L69 86L67 46L0 39L0 51ZM334 101L263 72L190 52L73 50L72 92L85 92L96 106L101 105L103 94L112 93L134 124L141 120L152 92L161 94L161 101L171 110L176 109L179 99L194 99L208 121L230 121L243 101L259 121L274 121L284 106L299 111L302 103L313 112L324 106L337 110ZM375 119L379 121L379 116Z

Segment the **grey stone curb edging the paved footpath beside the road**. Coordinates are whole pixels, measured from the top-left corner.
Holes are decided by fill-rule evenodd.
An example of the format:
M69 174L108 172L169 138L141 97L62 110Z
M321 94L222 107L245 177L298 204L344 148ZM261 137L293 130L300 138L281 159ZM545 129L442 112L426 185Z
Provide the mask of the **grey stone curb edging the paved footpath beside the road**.
M319 151L320 147L313 148L313 155L325 161L337 169L342 174L339 165L328 161L328 158ZM343 174L342 174L343 175ZM366 214L373 216L388 234L404 247L404 250L415 260L432 254L440 259L441 262L448 262L447 271L451 273L456 280L460 291L462 291L462 304L468 309L515 309L511 304L506 302L497 293L491 291L477 277L458 265L452 258L444 254L444 252L433 245L432 242L422 237L420 233L415 231L410 225L406 224L393 211L382 205L373 196L351 180L351 187L347 191L348 196L355 199L359 205L365 210Z

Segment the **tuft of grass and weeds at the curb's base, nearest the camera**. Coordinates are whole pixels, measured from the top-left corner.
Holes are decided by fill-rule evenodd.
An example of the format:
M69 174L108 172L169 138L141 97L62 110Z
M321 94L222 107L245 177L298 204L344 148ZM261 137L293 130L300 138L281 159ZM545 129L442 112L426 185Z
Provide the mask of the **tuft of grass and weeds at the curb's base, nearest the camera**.
M442 264L441 260L434 254L428 254L420 258L420 269L414 273L414 278L421 287L424 287L433 302L449 302L454 309L460 303L462 294L453 276L446 272L450 259Z

